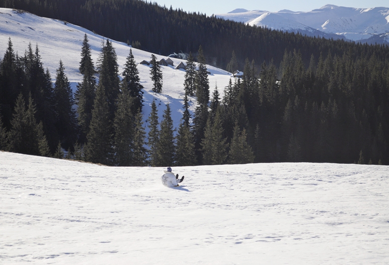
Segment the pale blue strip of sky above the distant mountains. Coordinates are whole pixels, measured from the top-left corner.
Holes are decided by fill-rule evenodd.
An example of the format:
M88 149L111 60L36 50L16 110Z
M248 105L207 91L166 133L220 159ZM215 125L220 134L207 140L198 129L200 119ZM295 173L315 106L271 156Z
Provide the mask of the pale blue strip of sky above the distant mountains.
M147 0L150 2L150 0ZM224 14L237 8L247 10L266 10L277 12L282 9L291 11L311 11L321 8L326 4L334 4L338 6L370 8L384 6L389 7L388 0L152 0L161 6L166 6L173 9L181 8L187 12L200 12L208 16L212 14Z

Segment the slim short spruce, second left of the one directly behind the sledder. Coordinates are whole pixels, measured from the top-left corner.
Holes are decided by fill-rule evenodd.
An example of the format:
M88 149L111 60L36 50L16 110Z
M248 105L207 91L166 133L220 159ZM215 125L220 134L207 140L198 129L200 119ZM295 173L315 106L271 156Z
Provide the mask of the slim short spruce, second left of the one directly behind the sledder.
M143 128L142 113L140 111L135 115L134 129L132 166L146 166L148 158L147 149L145 148L146 132Z

